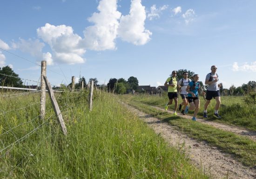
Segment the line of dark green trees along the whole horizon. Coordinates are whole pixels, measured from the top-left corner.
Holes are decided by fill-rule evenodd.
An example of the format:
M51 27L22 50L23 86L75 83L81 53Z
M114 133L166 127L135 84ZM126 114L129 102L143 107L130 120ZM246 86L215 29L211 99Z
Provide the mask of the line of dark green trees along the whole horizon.
M188 78L193 80L193 76L195 75L194 72L187 70L187 69L179 69L177 71L177 78L182 79L183 73L188 72ZM86 88L88 86L88 83L84 77L81 77L77 83L75 83L75 89L80 89L82 86L83 81L83 87ZM108 81L108 84L98 84L97 78L90 78L89 83L91 81L94 81L94 85L98 88L105 89L108 92L114 92L114 93L126 93L127 89L131 90L137 90L137 87L139 86L139 81L136 77L131 76L128 78L128 80L125 80L124 78L116 79L111 78ZM204 83L202 81L199 81L200 85L203 89L207 89L207 86L203 85ZM0 85L1 86L12 86L12 87L24 87L22 80L20 79L19 75L17 73L14 73L13 69L9 66L3 66L0 67ZM61 86L70 87L72 84L68 84L67 86L64 84L61 84ZM59 88L58 86L54 86L53 88ZM245 94L249 93L251 90L256 89L256 81L249 81L247 84L242 84L242 86L230 86L229 88L223 88L221 83L220 92L227 93L227 94Z

